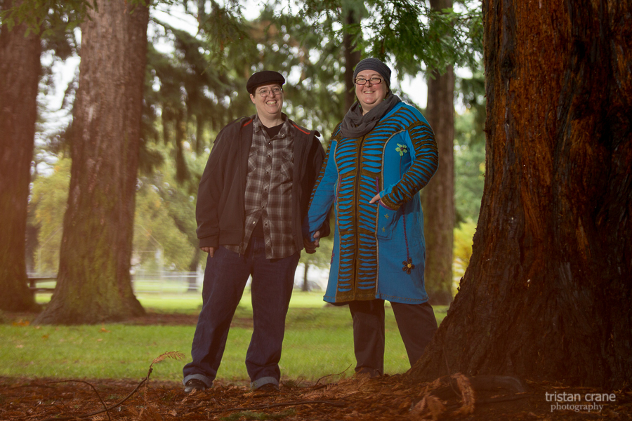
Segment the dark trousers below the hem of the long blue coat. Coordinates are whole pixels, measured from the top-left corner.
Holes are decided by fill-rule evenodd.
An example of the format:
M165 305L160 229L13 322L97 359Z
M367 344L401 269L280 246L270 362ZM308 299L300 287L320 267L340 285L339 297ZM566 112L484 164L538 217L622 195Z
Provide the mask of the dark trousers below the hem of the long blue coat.
M437 330L437 319L428 302L402 304L391 302L408 361L413 366ZM384 300L352 301L353 349L356 373L371 377L384 373Z

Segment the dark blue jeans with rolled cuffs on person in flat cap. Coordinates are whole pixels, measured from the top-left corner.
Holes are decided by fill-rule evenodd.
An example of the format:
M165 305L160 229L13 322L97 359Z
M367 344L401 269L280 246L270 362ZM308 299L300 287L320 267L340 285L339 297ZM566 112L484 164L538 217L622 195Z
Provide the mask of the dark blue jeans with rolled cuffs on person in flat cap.
M294 286L294 272L300 253L289 258L265 258L263 239L253 238L245 255L220 247L206 260L202 312L197 319L191 356L184 369L186 383L202 380L213 385L222 360L232 316L252 276L254 330L246 353L246 370L257 389L268 383L279 384L281 347L285 316Z

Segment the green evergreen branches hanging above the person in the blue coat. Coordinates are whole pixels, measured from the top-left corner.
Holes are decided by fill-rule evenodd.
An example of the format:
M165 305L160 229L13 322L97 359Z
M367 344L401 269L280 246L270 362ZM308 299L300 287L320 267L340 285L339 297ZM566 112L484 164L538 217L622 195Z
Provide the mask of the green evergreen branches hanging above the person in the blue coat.
M475 2L459 2L461 11L432 11L423 0L305 0L294 6L315 28L336 22L323 29L338 38L351 34L367 56L393 58L400 77L418 74L422 66L440 72L449 65L474 67L477 53L482 53L481 10ZM355 11L360 22L347 23L349 11Z

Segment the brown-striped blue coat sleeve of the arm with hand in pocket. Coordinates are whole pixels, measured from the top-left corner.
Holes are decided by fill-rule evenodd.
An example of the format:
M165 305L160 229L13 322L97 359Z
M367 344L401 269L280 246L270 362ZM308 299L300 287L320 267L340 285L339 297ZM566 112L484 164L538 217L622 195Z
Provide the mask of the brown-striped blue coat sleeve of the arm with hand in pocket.
M412 149L412 165L399 182L384 189L380 194L382 203L392 209L399 209L410 201L416 192L426 187L439 165L433 129L419 111L413 107L410 109L417 117L417 121L404 131L404 138Z

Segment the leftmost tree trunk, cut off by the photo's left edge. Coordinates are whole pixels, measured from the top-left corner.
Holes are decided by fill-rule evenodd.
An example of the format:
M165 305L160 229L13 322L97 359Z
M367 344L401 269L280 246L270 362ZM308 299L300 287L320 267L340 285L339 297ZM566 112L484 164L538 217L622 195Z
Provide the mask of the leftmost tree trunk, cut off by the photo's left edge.
M3 8L10 8L5 0ZM27 206L41 40L26 25L0 28L0 309L37 309L27 286Z

